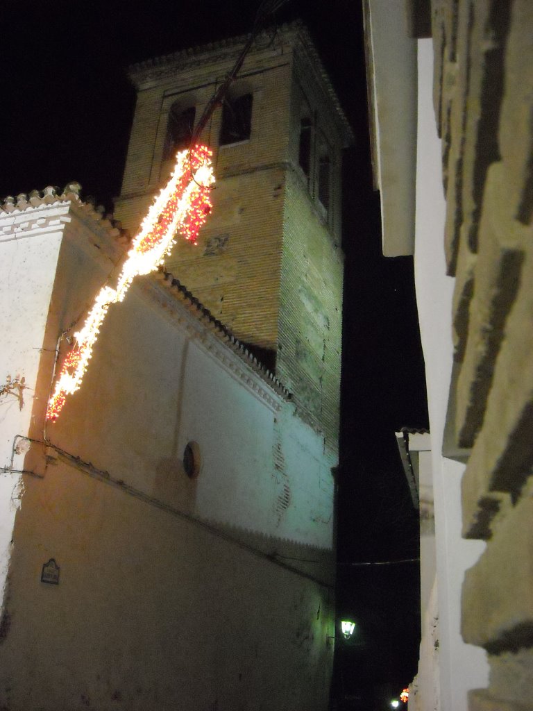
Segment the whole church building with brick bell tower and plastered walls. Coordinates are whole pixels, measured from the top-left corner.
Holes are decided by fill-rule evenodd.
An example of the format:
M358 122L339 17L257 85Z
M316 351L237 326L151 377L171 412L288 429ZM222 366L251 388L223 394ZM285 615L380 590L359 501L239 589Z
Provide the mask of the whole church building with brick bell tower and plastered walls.
M242 44L134 68L132 232ZM241 74L203 136L211 223L109 307L54 424L54 375L127 239L76 184L3 203L6 710L328 705L349 129L301 26Z

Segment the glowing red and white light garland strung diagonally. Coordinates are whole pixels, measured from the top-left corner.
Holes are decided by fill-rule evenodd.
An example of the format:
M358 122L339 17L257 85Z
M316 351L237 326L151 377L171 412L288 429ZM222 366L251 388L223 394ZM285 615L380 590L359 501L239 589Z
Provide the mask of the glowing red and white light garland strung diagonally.
M74 334L75 346L67 354L55 383L46 419L58 419L67 395L80 387L109 305L124 299L134 277L149 274L161 264L175 244L176 232L196 244L198 231L211 211L210 186L215 181L211 156L212 151L206 146L195 146L176 156L170 180L155 198L131 243L117 288L100 289L83 328Z

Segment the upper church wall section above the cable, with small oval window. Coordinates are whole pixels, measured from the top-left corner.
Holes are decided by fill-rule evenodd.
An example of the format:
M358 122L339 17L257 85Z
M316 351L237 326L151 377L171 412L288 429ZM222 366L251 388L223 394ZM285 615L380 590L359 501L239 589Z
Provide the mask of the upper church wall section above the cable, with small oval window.
M313 523L309 515L312 499L326 518L330 514L333 485L324 470L335 460L323 454L323 439L294 415L294 405L275 395L269 404L254 392L247 379L262 381L245 363L239 363L240 373L237 365L231 370L239 361L235 354L225 364L218 357L223 346L210 345L205 329L153 279L134 285L124 303L109 310L83 389L48 428L50 438L176 505L184 486L183 449L198 442L202 469L188 510L205 520L330 549L330 523ZM279 469L274 447L282 459ZM286 515L279 522L272 515L277 471L291 489L290 523ZM330 481L326 492L318 486L321 476Z

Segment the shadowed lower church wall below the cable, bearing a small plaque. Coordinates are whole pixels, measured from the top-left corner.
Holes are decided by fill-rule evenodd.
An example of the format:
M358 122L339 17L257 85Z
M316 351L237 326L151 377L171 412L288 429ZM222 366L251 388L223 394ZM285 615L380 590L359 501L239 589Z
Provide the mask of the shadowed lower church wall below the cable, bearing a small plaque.
M10 711L325 709L327 589L63 463L20 513Z

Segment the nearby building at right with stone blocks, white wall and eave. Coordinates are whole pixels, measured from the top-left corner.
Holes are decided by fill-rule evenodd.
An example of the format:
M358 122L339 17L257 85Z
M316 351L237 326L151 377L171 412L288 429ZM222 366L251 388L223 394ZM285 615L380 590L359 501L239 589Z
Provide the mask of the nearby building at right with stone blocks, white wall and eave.
M383 250L414 254L429 398L438 657L415 708L530 709L533 7L365 10Z

